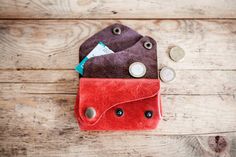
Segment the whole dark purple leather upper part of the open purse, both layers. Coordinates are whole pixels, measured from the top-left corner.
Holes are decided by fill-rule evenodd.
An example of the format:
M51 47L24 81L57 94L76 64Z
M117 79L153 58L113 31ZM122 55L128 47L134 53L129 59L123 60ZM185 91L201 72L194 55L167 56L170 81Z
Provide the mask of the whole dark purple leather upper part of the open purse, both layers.
M121 28L121 34L114 35L113 28ZM147 72L143 78L157 78L157 48L151 37L142 36L131 28L114 24L90 37L80 47L82 60L97 44L102 41L114 54L98 56L89 59L84 65L83 77L90 78L132 78L129 74L129 65L133 62L142 62ZM144 47L144 43L152 43L152 49Z

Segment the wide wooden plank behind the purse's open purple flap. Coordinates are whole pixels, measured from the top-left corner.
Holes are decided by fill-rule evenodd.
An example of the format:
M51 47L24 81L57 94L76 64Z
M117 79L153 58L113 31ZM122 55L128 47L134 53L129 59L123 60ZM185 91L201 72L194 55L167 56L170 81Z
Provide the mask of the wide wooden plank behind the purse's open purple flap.
M158 42L161 66L175 69L236 69L235 20L0 21L0 69L74 69L79 46L109 24L121 22ZM176 64L168 49L178 45Z

